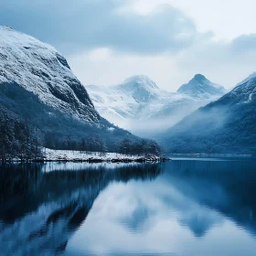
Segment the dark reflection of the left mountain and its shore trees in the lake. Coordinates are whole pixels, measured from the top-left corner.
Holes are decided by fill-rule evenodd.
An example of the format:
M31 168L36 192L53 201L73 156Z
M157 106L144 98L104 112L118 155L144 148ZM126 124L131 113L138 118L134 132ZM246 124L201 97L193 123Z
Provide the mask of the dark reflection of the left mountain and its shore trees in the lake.
M111 166L111 165L110 165ZM62 166L63 167L63 166ZM0 166L0 251L3 255L53 255L86 219L111 182L154 179L161 165L98 165L80 171L43 172L45 165Z

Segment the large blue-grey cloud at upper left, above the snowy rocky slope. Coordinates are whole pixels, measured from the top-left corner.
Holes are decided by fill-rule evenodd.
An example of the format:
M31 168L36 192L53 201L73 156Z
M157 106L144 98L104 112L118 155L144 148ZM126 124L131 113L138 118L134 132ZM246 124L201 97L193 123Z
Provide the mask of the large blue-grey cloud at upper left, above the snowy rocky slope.
M187 48L201 37L192 19L171 5L140 15L128 4L128 0L77 0L75 4L68 0L9 0L0 4L0 23L64 52L111 48L156 54Z

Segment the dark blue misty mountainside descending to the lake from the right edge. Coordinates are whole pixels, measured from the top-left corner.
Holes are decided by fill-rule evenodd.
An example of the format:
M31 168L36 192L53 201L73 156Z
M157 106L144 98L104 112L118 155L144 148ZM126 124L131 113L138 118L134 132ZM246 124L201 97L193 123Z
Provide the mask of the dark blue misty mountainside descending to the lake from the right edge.
M189 114L159 136L168 152L256 154L256 78Z

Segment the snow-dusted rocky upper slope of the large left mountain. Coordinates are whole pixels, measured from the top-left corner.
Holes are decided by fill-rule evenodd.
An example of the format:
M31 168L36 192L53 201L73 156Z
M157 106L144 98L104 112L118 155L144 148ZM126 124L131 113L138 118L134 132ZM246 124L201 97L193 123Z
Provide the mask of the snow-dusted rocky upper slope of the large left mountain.
M55 48L0 26L0 84L6 82L16 82L56 110L86 123L100 123L87 91Z

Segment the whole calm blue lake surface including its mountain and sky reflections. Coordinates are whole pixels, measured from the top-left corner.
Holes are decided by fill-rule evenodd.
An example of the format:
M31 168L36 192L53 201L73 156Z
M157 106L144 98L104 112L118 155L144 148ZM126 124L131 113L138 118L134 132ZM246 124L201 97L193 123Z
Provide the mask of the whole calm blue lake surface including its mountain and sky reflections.
M256 161L0 166L0 255L256 255Z

